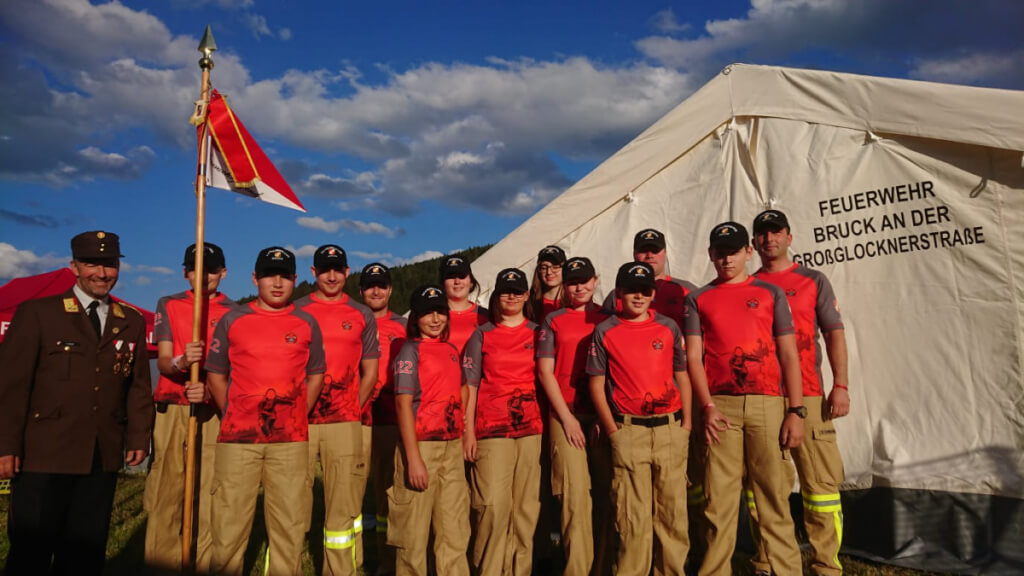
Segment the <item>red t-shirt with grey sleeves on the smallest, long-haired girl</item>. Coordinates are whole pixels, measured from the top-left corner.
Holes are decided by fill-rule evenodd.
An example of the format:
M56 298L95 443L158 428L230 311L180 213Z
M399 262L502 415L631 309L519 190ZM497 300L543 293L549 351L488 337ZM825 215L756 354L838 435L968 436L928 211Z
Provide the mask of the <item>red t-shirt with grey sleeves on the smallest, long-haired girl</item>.
M459 351L437 338L408 340L394 359L394 394L413 396L416 439L462 438Z

